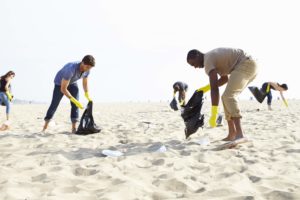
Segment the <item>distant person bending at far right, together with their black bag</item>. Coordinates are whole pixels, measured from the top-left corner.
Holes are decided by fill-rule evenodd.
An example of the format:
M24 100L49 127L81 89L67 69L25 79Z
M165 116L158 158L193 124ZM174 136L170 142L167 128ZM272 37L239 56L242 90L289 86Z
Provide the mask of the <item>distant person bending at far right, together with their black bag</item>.
M271 104L272 104L272 92L271 90L274 91L279 91L280 96L282 98L282 101L284 102L285 106L288 107L288 103L286 99L283 96L283 92L288 90L287 84L279 84L276 82L265 82L262 84L261 89L258 90L257 87L249 87L250 91L256 98L256 100L260 103L264 101L264 99L267 97L267 104L268 104L268 109L272 110Z

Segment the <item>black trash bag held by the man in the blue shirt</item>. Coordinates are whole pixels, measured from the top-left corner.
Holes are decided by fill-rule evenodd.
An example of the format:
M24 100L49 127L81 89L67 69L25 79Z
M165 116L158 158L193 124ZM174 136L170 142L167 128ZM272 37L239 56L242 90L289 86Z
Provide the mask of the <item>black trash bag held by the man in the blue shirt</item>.
M78 126L78 129L76 131L77 135L89 135L94 133L99 133L101 129L97 127L97 125L94 122L93 117L93 102L90 101L87 105L87 108L82 114L82 117L80 119L80 124Z

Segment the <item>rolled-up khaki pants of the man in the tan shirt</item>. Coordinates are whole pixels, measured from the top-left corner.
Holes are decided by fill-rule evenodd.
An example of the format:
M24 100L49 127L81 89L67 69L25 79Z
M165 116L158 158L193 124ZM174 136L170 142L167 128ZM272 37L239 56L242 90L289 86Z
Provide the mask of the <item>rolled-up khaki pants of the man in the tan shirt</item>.
M231 72L226 89L222 95L226 120L230 120L232 117L242 117L237 96L255 79L256 74L257 66L252 59L245 60Z

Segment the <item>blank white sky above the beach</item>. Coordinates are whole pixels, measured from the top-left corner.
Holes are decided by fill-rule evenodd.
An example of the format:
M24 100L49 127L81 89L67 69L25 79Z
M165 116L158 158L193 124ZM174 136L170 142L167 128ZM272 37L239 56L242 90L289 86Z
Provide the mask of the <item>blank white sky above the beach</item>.
M296 0L1 0L0 74L16 72L16 98L48 102L56 72L92 54L94 101L170 100L177 80L190 95L208 83L186 63L190 49L235 47L258 59L252 85L287 83L285 96L299 98L298 8Z

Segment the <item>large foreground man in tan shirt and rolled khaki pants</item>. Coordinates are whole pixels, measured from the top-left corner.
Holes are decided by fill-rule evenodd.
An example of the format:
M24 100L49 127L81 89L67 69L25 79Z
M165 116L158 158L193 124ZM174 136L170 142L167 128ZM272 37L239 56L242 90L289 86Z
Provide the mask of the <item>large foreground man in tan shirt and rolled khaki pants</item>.
M219 87L227 83L222 101L228 123L228 136L223 140L236 143L247 141L241 126L242 115L237 97L256 77L255 61L241 49L217 48L205 54L196 49L190 50L187 62L194 68L204 68L209 76L210 84L203 87L203 92L211 89L210 126L217 126Z

